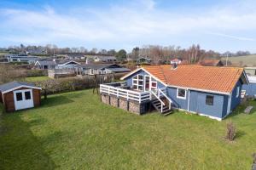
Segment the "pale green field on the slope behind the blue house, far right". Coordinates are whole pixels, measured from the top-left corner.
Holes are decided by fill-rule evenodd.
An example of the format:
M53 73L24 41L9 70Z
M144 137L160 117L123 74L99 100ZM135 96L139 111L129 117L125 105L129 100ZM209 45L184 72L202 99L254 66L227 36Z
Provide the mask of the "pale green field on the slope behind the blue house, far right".
M222 58L225 62L226 58ZM256 54L247 55L247 56L239 56L239 57L229 57L229 60L232 64L235 65L247 65L247 66L256 66Z

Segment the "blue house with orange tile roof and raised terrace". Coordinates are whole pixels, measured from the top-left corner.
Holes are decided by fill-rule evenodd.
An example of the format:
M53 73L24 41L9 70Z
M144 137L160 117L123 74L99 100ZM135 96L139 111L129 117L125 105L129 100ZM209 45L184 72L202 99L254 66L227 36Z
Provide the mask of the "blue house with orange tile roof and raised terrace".
M143 114L153 105L166 113L172 108L222 120L241 102L247 84L242 68L201 65L148 65L131 71L119 84L102 84L102 102Z

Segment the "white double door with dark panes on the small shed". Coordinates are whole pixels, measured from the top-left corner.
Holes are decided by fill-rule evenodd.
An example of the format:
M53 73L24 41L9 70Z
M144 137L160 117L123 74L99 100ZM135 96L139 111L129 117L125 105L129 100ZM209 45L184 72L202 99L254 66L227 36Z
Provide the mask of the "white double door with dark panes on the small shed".
M34 106L32 89L14 91L15 110L31 108Z

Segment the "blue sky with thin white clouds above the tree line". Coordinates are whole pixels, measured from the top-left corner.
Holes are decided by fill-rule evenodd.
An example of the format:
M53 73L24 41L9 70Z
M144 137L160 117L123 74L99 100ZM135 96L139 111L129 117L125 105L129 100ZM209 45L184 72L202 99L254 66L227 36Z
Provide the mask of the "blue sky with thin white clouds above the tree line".
M0 46L130 51L143 45L256 53L255 0L0 0Z

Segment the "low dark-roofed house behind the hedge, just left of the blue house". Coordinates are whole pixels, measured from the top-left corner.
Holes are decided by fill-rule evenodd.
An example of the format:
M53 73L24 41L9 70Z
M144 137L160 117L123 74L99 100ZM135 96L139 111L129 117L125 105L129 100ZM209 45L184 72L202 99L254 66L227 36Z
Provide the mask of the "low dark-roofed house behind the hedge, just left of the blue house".
M131 70L115 64L88 64L77 65L75 67L75 71L77 72L77 75L96 75L110 73L125 73Z

